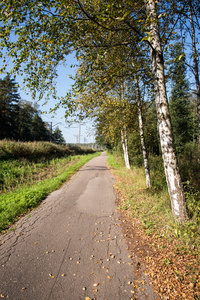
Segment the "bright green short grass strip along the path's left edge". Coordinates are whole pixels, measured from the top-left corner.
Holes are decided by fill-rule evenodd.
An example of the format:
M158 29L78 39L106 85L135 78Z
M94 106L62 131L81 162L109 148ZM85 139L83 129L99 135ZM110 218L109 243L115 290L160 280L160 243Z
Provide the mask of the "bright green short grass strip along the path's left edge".
M14 223L20 215L36 207L52 191L58 189L72 174L81 166L98 156L99 153L73 156L73 160L65 158L66 165L62 161L62 172L59 174L51 172L51 178L41 180L30 185L30 182L23 183L23 186L16 188L14 191L0 194L0 231L8 228ZM56 165L59 166L59 160ZM52 170L51 170L52 171Z

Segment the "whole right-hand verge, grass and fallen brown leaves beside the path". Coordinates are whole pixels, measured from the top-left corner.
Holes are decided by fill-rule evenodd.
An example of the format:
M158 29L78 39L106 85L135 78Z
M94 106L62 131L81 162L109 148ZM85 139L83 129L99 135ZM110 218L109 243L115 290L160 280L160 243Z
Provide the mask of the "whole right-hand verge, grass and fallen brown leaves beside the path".
M156 188L147 190L142 168L132 167L129 171L121 157L111 154L108 165L117 179L122 225L131 224L130 241L136 245L133 256L145 266L156 292L161 299L200 299L200 231L196 215L185 226L177 224L166 187L158 188L158 174L152 174L158 186L155 182Z

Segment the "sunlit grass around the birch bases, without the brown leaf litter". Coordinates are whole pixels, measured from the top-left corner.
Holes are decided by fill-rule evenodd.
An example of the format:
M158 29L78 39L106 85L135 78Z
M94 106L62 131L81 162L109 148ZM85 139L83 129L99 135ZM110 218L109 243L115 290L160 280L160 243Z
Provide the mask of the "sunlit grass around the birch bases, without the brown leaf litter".
M163 182L162 167L158 160L155 158L157 167L151 168L153 187L149 190L146 189L145 174L142 167L132 166L131 170L127 170L120 156L108 154L108 164L118 177L116 188L123 194L121 208L129 209L132 216L140 220L141 227L146 231L146 234L160 238L165 237L171 241L176 239L180 247L199 251L198 193L197 195L193 193L193 196L191 192L186 194L188 210L193 212L191 219L184 226L176 223L172 215L166 184ZM151 164L153 164L152 161Z

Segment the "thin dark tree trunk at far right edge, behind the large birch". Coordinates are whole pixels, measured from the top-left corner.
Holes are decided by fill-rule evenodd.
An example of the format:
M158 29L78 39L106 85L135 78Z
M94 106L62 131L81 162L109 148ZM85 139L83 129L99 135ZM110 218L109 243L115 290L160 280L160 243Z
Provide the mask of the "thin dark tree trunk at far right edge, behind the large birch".
M197 95L197 115L198 115L198 128L199 128L199 150L200 150L200 80L199 80L199 66L198 66L198 54L196 49L195 43L195 29L194 29L194 22L193 22L193 15L192 15L192 4L189 1L189 10L190 10L190 24L192 30L192 52L193 52L193 63L194 63L194 76L196 81L196 95Z

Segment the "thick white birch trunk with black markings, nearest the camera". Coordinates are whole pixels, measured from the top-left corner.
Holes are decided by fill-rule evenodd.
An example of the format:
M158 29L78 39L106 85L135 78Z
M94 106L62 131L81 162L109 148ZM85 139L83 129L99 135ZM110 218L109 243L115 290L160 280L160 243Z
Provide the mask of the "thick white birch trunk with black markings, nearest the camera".
M154 76L154 93L158 128L172 212L178 221L184 223L186 218L185 195L173 142L171 120L165 87L164 60L155 2L155 0L146 0L146 8L150 22L149 29L151 36L149 41L151 43L151 62Z

